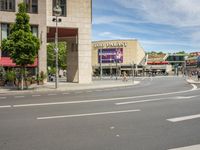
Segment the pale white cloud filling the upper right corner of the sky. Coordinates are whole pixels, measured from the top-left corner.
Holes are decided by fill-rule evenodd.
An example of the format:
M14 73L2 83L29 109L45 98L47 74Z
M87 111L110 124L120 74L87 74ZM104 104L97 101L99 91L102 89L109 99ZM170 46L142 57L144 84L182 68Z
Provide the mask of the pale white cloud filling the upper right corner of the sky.
M174 26L200 25L199 0L115 0L125 8L137 10L141 19Z

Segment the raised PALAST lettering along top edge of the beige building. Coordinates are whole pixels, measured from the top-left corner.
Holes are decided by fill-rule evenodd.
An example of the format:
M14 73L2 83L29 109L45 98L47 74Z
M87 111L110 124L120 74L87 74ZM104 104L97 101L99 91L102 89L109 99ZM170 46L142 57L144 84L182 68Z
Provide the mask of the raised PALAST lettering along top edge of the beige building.
M95 48L122 48L127 47L126 42L109 42L109 43L96 43L94 44Z

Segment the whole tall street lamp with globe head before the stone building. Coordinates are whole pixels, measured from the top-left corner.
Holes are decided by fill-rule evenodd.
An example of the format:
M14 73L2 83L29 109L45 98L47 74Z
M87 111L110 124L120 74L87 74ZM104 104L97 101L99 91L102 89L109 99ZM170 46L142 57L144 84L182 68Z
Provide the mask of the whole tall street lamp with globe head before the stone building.
M55 65L56 65L56 76L55 76L55 88L58 88L58 22L61 22L62 20L60 18L58 18L61 13L62 13L62 9L61 7L57 4L54 8L53 8L53 12L54 12L54 16L55 18L53 18L53 22L56 22L56 32L55 32L55 57L56 57L56 61L55 61Z

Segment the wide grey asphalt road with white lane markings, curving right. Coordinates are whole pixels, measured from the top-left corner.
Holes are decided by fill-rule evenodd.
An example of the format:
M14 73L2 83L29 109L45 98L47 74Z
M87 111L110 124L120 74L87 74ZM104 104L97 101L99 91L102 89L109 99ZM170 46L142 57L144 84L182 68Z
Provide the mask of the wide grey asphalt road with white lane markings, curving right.
M136 86L0 95L0 150L199 150L199 87Z

